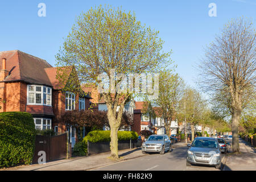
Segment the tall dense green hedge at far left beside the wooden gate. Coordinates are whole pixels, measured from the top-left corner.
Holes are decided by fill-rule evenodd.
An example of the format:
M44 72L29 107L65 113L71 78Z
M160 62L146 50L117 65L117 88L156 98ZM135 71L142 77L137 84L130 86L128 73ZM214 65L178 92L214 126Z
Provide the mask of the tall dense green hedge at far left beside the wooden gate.
M32 115L0 113L0 168L30 164L34 148L35 124Z

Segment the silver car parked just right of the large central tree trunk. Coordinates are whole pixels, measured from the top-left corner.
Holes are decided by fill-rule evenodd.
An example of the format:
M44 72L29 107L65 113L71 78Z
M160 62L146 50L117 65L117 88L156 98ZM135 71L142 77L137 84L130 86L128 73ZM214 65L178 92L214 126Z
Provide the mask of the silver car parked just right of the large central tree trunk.
M167 135L151 135L146 142L142 143L142 153L172 151L171 140Z

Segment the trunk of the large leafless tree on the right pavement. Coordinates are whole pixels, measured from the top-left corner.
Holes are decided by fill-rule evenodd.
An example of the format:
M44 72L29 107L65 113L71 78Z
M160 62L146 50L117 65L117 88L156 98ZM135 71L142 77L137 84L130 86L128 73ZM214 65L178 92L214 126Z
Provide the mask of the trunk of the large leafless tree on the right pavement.
M232 151L233 153L240 153L239 138L238 138L238 125L240 122L241 111L234 110L232 113Z

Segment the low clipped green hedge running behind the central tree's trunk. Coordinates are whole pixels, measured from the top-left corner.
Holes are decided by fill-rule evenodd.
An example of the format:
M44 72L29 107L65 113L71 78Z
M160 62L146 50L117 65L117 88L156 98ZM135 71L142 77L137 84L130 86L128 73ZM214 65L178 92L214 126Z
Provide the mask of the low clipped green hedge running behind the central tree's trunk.
M135 131L118 131L118 140L137 140L138 134ZM110 142L110 131L90 131L86 136L89 142Z

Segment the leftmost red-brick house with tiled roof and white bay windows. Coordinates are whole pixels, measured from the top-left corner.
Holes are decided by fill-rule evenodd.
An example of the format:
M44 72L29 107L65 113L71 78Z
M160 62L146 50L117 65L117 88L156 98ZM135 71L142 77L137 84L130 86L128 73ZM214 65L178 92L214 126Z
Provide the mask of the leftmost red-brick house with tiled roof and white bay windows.
M88 109L88 95L63 93L56 80L55 67L46 60L21 51L0 52L0 112L25 111L32 114L39 130L68 131L72 146L77 140L75 127L57 119L67 110ZM71 69L71 71L73 71Z

